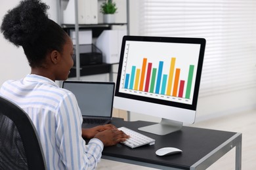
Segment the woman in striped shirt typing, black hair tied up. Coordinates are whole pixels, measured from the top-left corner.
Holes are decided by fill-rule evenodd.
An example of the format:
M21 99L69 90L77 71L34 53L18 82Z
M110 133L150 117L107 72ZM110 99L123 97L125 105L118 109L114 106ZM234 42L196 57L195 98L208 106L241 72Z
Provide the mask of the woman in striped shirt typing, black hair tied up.
M3 18L1 32L15 46L22 46L31 74L5 82L0 95L22 107L32 119L48 169L95 169L103 146L128 136L112 125L81 129L74 94L54 83L68 78L74 64L73 44L48 18L47 9L40 0L25 0ZM86 145L82 136L92 139Z

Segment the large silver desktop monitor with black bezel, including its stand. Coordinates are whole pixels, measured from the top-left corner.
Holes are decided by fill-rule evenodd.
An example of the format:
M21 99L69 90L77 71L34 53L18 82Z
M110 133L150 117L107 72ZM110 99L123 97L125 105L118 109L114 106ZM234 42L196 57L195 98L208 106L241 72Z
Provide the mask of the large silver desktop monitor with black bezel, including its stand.
M160 117L139 128L158 135L193 124L204 51L201 38L123 37L114 107Z

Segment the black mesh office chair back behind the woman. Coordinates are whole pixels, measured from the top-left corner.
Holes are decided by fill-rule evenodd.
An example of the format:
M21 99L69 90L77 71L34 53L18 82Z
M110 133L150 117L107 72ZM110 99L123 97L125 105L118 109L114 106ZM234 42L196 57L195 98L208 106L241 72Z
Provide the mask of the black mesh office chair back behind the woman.
M0 97L0 169L46 169L37 131L18 105Z

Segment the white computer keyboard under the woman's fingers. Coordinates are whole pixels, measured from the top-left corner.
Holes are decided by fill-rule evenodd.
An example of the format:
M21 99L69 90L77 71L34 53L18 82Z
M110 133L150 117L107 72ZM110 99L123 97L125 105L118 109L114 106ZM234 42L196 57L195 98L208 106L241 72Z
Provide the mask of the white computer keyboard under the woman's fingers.
M147 137L146 135L142 135L137 131L133 131L131 129L128 129L127 127L119 127L118 129L130 136L129 139L127 139L124 142L121 142L126 146L129 146L130 148L137 148L145 144L155 144L155 139Z

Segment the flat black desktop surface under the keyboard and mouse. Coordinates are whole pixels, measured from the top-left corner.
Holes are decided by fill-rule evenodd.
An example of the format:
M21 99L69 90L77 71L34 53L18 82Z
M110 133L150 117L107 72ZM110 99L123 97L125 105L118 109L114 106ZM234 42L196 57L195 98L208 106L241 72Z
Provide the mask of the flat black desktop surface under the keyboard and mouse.
M125 126L135 131L139 131L138 127L148 126L155 123L144 121L125 122L121 119L114 119L112 124L116 127ZM105 147L102 155L179 169L190 169L194 163L236 134L228 131L186 126L182 127L180 131L164 136L154 135L143 131L139 132L156 139L156 143L151 146L146 145L133 149L124 146L123 144L117 144L116 146ZM173 154L163 157L156 156L156 150L165 146L180 148L183 152L182 154Z

